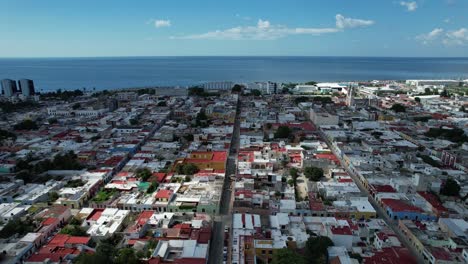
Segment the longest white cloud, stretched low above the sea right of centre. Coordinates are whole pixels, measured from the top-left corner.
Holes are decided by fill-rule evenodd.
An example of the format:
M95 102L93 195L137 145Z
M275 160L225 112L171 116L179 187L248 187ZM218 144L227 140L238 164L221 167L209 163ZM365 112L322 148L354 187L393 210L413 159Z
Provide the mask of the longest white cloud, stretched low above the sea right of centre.
M346 28L357 28L374 24L371 20L345 18L336 15L336 27L329 28L289 28L284 25L273 25L268 20L259 19L255 26L238 26L223 30L209 31L202 34L173 36L172 39L231 39L231 40L273 40L289 35L322 35L343 31Z

